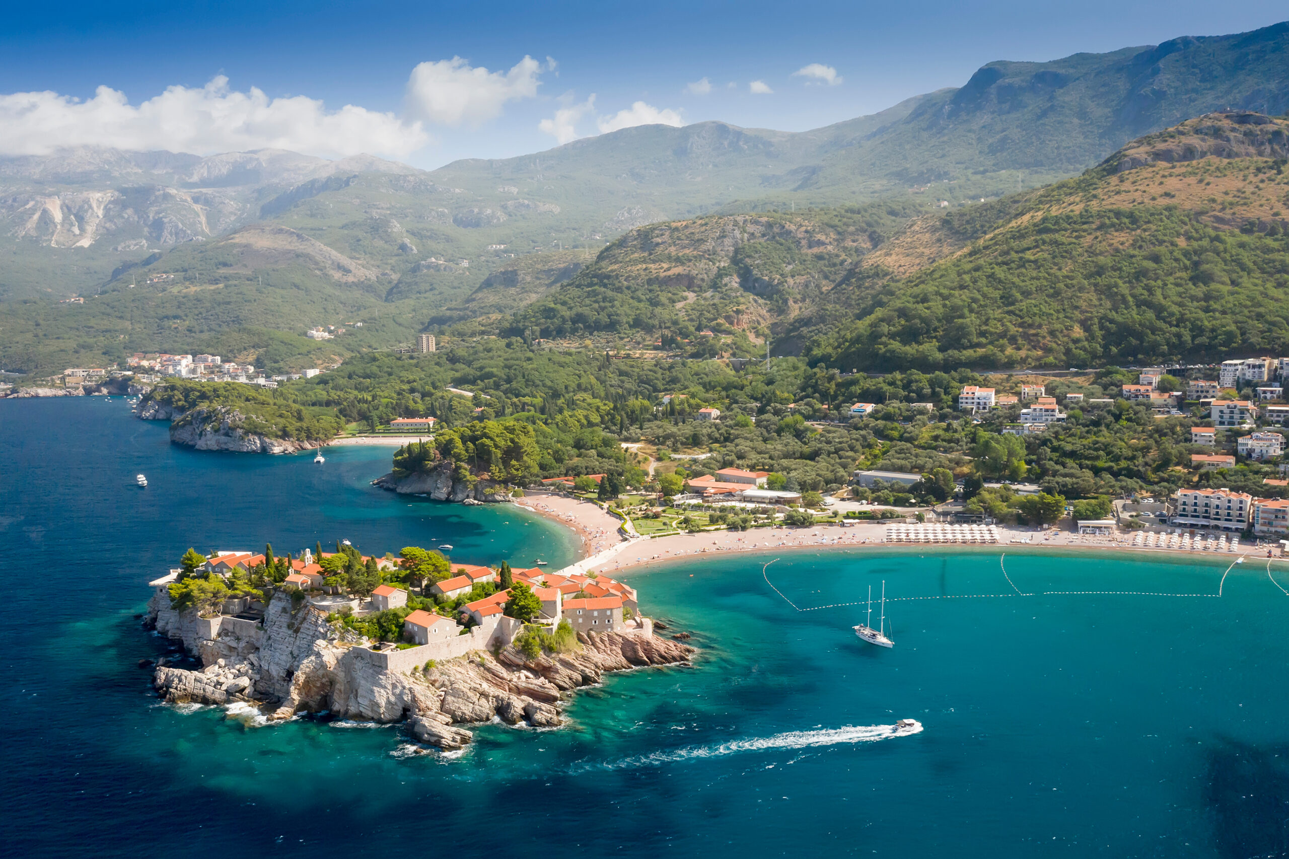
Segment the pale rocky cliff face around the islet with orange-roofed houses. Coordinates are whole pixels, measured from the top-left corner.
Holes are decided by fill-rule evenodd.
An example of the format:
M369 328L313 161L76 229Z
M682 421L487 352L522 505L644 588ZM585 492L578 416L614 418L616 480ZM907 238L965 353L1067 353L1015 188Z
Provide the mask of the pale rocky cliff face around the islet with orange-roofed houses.
M367 641L309 605L293 607L275 595L263 628L220 629L208 637L210 622L179 614L159 592L148 604L156 629L183 642L204 668L159 666L153 684L173 703L246 702L289 718L298 711L330 711L345 718L407 720L418 740L459 748L470 733L456 727L494 717L516 725L557 726L566 693L598 684L610 671L688 663L693 649L652 635L579 636L581 650L527 659L514 647L495 655L477 650L433 667L388 671L373 662ZM244 622L249 623L249 622ZM251 624L253 626L253 624Z

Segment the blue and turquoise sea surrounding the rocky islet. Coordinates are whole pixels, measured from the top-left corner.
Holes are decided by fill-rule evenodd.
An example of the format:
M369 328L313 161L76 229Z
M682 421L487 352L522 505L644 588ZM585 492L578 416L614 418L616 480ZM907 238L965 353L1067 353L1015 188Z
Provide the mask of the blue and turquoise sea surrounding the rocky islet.
M1266 561L1225 583L1230 558L993 547L628 574L695 666L612 676L571 727L489 725L455 756L409 755L397 726L159 704L137 664L166 642L134 615L188 546L571 557L522 511L370 488L388 457L196 453L121 400L0 401L0 853L1289 855L1289 565ZM862 606L797 611L763 575L803 609L886 582L896 647L853 636ZM901 717L926 730L880 739Z

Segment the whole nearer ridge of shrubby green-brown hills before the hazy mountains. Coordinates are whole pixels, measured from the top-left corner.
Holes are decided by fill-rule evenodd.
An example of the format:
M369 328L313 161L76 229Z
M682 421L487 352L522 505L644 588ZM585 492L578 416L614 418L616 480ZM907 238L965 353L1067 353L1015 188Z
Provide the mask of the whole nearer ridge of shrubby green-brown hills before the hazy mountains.
M1105 365L1289 348L1289 121L1222 112L1083 175L910 219L870 204L651 224L509 334L697 338L842 369ZM722 335L724 335L722 338Z

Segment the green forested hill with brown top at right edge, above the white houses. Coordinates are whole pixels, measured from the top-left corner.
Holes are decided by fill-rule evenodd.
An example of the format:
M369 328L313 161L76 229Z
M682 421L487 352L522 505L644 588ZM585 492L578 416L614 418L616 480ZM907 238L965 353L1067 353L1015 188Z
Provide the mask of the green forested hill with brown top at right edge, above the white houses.
M1208 116L980 223L950 215L945 231L982 237L902 279L857 270L851 288L870 297L811 357L932 369L1289 351L1286 156L1285 120Z

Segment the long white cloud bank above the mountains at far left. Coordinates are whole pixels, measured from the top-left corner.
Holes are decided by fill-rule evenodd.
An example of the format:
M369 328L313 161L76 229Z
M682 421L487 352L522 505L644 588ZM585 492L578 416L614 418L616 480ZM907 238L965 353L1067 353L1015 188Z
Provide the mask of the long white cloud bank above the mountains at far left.
M284 148L321 156L375 152L405 156L429 142L420 123L345 104L326 111L304 95L240 93L218 76L205 86L170 86L133 106L99 86L80 101L53 92L0 95L0 153L44 155L67 146L177 152Z

